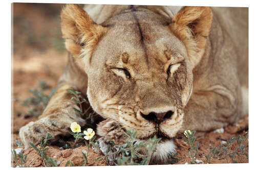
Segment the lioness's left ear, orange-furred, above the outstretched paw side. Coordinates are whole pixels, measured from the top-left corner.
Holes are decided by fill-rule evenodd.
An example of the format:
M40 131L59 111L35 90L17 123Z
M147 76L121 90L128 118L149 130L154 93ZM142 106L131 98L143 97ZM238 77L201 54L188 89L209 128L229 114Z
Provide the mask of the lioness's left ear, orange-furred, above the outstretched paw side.
M97 25L77 4L68 4L61 11L61 32L66 39L66 48L73 55L81 53L82 46L91 52L106 31Z

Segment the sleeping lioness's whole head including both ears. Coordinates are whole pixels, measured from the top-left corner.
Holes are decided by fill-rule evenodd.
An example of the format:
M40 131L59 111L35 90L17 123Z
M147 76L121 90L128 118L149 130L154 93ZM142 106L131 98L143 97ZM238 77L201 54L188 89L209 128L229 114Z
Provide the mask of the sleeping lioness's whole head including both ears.
M67 50L88 76L94 111L138 139L175 137L193 90L193 68L211 27L208 7L183 7L173 18L144 8L97 25L78 5L61 13Z

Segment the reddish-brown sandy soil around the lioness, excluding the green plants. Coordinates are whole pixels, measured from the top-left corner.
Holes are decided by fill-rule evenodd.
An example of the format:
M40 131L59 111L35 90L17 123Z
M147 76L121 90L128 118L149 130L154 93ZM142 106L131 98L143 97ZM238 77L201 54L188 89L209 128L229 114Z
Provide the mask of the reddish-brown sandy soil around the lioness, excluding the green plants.
M63 40L60 35L59 28L59 10L61 5L53 5L47 8L45 6L33 4L16 4L14 6L14 54L13 54L13 110L12 110L12 148L16 149L17 144L15 139L20 142L18 136L19 128L26 125L30 121L36 120L30 117L27 113L27 108L22 106L21 101L26 99L31 94L28 89L36 88L39 80L44 80L50 87L55 87L59 76L62 74L63 69L67 63L67 52L61 50L63 48ZM30 9L30 10L27 10ZM49 12L52 9L53 12ZM34 17L31 17L34 16ZM54 17L52 17L54 16ZM24 18L28 18L29 26L24 26ZM50 32L49 28L56 28L57 33ZM30 29L30 30L29 30ZM44 32L44 35L41 33ZM32 36L32 40L28 39ZM44 37L44 38L43 38ZM59 44L53 45L51 42L58 40ZM32 42L31 42L32 41ZM48 91L50 93L50 91ZM222 141L226 141L231 136L237 137L244 135L248 130L248 116L240 120L234 125L224 128L223 133L208 132L204 136L197 137L196 141L199 142L199 154L197 159L202 160L201 163L207 163L205 155L209 153L209 149L219 147ZM190 161L189 146L183 139L175 139L177 146L179 161L177 164L185 164ZM246 142L246 152L248 152L248 141ZM234 146L236 147L236 145ZM234 147L232 149L234 149ZM57 146L50 146L47 155L56 159L59 166L65 166L68 160L72 161L75 166L82 163L82 151L87 150L83 145L76 149L63 150ZM28 161L32 161L31 167L44 166L42 159L34 149L22 151L24 155L28 155ZM96 157L100 156L91 149L89 155L89 163ZM231 160L229 160L231 162ZM239 163L246 163L246 157L238 161ZM220 159L212 159L211 163L226 163L222 157ZM109 165L105 160L100 160L94 165ZM16 164L12 164L16 167Z

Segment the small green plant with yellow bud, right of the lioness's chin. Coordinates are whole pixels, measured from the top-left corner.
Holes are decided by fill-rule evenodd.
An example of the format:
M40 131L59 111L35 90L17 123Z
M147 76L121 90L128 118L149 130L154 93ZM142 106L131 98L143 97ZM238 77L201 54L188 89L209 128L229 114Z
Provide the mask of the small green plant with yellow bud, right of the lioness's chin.
M186 130L184 131L184 135L185 137L183 137L183 140L189 144L190 146L190 149L189 149L189 157L192 159L190 161L191 164L195 164L196 162L196 157L197 157L197 154L198 154L198 142L196 142L195 144L195 140L196 140L196 137L194 136L196 133L196 131L193 131L193 132L190 132L190 130Z

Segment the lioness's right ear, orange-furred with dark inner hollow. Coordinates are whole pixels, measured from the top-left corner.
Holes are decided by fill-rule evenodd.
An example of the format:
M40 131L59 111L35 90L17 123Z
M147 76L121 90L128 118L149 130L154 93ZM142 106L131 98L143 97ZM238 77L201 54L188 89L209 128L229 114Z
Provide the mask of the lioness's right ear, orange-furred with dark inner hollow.
M209 7L183 7L174 17L169 27L185 44L193 67L203 53L212 22Z

